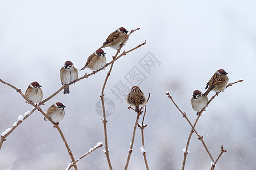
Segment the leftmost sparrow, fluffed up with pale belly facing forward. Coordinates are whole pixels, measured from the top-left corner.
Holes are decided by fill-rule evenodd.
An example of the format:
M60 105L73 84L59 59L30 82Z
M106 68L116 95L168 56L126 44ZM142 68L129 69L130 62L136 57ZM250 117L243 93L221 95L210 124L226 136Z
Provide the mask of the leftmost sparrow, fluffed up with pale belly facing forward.
M27 90L25 92L25 96L28 100L32 101L32 103L40 103L43 99L43 91L40 88L42 86L39 85L38 82L32 82L27 87Z

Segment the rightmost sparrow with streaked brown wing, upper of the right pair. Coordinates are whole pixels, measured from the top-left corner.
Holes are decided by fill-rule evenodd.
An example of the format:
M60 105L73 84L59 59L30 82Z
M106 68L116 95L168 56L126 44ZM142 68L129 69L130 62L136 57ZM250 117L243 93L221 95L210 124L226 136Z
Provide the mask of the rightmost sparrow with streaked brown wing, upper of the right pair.
M226 73L226 71L223 69L217 70L216 73L214 73L212 78L210 78L209 82L207 83L205 89L208 89L204 93L204 96L207 96L210 91L223 91L226 88L226 85L228 84L229 81L228 76L226 76L227 74L228 73Z

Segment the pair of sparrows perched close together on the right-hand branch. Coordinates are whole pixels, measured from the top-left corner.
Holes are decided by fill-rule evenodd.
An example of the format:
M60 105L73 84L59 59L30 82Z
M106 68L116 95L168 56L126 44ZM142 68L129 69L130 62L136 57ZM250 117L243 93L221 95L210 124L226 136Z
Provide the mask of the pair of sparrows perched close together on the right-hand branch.
M209 101L207 95L210 91L215 91L217 93L223 91L226 88L229 81L228 76L226 76L227 74L228 73L226 73L226 71L223 69L217 70L207 83L207 86L205 87L207 91L204 94L199 90L195 90L193 92L191 105L193 110L196 111L196 115L198 115L199 112L207 106Z

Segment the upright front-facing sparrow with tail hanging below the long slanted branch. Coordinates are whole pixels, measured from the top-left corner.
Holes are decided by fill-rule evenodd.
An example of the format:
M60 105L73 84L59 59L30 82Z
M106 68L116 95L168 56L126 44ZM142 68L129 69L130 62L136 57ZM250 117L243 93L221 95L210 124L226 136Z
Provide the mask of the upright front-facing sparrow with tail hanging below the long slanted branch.
M66 61L64 67L60 69L61 84L69 84L78 78L78 70L71 61ZM64 94L69 94L69 86L64 88Z

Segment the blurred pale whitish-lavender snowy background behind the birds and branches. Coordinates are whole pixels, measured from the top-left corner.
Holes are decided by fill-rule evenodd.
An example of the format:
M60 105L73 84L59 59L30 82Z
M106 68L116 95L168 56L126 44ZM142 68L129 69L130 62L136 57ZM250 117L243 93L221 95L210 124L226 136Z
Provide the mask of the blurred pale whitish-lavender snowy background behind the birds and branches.
M0 1L0 78L26 91L37 81L44 99L61 87L59 71L71 60L81 69L86 59L119 27L134 32L122 50L147 41L141 48L115 62L105 97L115 103L108 117L110 159L123 169L136 113L115 99L110 89L150 52L161 65L139 86L151 93L144 130L150 169L181 169L183 148L191 130L166 91L193 122L196 113L190 99L193 90L204 91L218 69L230 82L243 79L216 97L196 129L204 136L213 158L228 150L217 169L255 168L256 11L255 1ZM104 49L107 62L115 50ZM109 67L60 92L56 101L67 108L60 122L76 159L97 142L104 142L101 117L95 111ZM143 70L142 70L143 71ZM79 76L90 73L89 69ZM127 83L127 82L126 82ZM131 88L131 85L127 83ZM209 96L214 95L210 92ZM20 114L32 109L12 88L0 83L0 131L11 128ZM141 122L141 120L139 120ZM137 129L129 169L145 169ZM109 169L104 147L82 159L79 169ZM196 135L189 145L185 169L209 169L210 158ZM16 128L0 151L3 169L65 169L71 162L64 143L52 124L36 111Z

